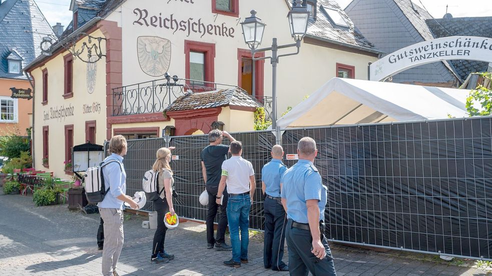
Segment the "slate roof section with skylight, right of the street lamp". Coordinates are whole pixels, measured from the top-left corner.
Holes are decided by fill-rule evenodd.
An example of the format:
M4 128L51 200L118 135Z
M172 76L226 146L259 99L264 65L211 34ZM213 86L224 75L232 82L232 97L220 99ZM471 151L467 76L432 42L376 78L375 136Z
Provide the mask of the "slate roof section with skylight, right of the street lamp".
M289 1L289 6L292 6ZM325 8L337 9L349 27L335 25ZM327 38L342 43L369 48L379 52L355 27L352 20L334 0L317 0L316 20L309 20L307 34L312 37Z

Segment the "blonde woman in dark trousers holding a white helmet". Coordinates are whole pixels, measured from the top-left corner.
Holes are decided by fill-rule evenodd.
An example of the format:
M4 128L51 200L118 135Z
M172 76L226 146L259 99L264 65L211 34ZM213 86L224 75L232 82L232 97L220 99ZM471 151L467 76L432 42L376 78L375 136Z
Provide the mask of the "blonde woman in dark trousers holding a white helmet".
M167 227L164 224L164 216L167 212L171 212L174 215L173 207L173 187L174 178L173 171L169 163L171 162L171 150L174 147L160 148L156 153L156 162L152 166L152 169L159 172L159 191L164 189L164 193L159 196L159 199L154 202L154 206L157 211L157 230L154 235L154 243L152 245L152 263L165 264L169 260L174 259L174 255L166 253L164 251L164 240L166 239Z

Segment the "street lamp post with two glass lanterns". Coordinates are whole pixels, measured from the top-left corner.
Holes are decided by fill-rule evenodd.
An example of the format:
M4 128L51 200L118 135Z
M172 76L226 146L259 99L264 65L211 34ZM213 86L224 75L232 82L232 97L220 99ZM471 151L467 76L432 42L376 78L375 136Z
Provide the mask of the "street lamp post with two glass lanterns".
M295 55L299 53L301 47L301 40L306 34L307 23L309 19L309 11L306 7L302 6L302 0L294 0L292 9L287 14L289 19L290 33L295 43L287 45L278 45L277 38L273 38L272 46L268 48L257 49L261 44L263 38L263 32L266 24L256 17L256 10L251 10L251 16L244 19L241 23L243 28L244 42L248 44L251 49L251 56L253 60L270 59L272 64L272 129L277 129L277 64L278 59L282 56ZM278 55L278 49L296 47L295 53ZM271 56L256 58L257 52L272 51Z

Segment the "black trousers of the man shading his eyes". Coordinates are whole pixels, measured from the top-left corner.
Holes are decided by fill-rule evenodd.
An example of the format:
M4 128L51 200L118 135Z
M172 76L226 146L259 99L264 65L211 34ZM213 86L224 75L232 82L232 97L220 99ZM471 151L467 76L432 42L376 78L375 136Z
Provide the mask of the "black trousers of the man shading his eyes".
M225 242L225 234L226 234L226 228L227 228L227 200L229 198L229 195L227 194L227 188L224 190L222 193L224 195L224 199L222 200L222 205L218 205L216 200L217 200L217 193L219 190L219 186L213 185L213 186L206 186L207 192L208 192L208 212L207 212L207 220L206 220L206 225L207 225L207 243L209 244L215 244L215 242L218 243L224 243ZM220 213L218 215L217 221L219 222L219 225L217 226L217 239L214 238L214 220L215 216L217 215L217 210L220 209Z

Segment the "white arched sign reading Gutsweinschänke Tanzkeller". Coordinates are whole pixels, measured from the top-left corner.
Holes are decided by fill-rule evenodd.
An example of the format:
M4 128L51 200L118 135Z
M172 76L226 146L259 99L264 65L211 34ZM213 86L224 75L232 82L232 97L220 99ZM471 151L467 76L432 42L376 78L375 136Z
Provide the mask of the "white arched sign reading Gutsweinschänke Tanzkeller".
M369 66L369 80L381 81L412 67L441 60L492 62L492 38L448 36L394 51Z

